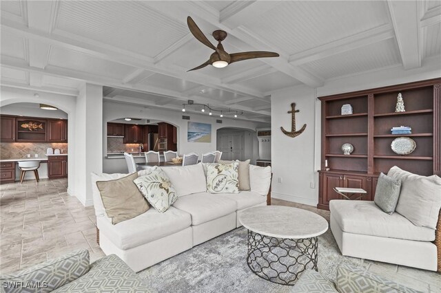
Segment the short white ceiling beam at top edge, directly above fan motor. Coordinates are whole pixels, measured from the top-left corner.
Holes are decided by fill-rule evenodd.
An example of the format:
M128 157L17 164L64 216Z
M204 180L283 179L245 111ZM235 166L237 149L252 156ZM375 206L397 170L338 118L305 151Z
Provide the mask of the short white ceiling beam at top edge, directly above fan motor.
M220 11L219 21L234 30L276 6L274 1L236 1Z

